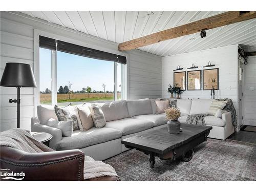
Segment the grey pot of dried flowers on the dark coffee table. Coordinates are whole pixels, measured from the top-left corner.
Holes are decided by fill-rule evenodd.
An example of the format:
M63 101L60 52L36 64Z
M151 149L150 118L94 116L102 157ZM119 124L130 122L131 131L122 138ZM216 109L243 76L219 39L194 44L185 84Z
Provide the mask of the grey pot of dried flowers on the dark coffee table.
M178 108L168 108L164 110L167 121L168 133L178 134L180 133L180 110Z

